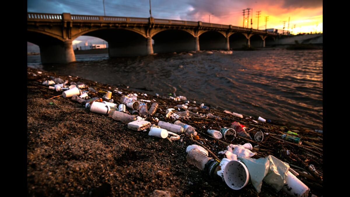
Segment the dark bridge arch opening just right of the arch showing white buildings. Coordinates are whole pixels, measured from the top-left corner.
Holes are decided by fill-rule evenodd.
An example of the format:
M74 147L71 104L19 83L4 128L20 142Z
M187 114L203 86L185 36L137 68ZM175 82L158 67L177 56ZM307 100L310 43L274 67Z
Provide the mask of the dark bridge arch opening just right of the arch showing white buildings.
M185 52L196 50L196 39L189 31L166 29L152 36L154 53Z

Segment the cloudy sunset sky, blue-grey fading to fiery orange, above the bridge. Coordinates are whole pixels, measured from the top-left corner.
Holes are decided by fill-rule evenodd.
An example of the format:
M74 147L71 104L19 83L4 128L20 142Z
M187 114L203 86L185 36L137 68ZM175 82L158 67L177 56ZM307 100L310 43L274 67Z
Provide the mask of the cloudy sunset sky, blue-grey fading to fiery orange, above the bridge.
M28 12L104 15L103 0L28 0ZM152 16L161 19L189 20L243 26L243 9L253 9L253 28L288 28L292 34L323 32L322 0L151 0ZM105 0L109 16L149 17L149 0ZM251 15L249 16L249 28ZM295 28L293 28L295 25ZM292 29L293 28L293 29ZM80 36L75 43L96 38ZM98 42L99 43L99 42Z

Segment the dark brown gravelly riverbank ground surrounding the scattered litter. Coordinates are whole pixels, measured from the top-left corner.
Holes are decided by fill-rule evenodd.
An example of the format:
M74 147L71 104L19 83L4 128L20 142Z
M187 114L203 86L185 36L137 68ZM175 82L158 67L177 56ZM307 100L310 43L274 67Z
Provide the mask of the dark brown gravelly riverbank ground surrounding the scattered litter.
M157 97L142 96L138 91L108 84L101 84L77 77L58 75L53 72L27 68L27 182L29 196L159 196L156 190L162 190L170 196L287 196L282 191L262 184L261 193L257 193L252 184L235 191L222 182L210 179L203 171L198 170L186 160L186 148L194 142L187 136L181 140L169 142L148 136L148 132L133 131L124 122L115 121L108 116L89 112L85 107L69 98L63 98L61 92L48 89L42 81L48 76L60 77L69 82L83 82L98 90L89 92L91 97L103 97L106 91L112 91L112 99L118 103L120 94L113 91L119 88L123 94L136 93L138 99L155 100L159 103L156 117L160 121L174 122L165 118L165 110L183 102ZM36 76L33 76L35 74ZM110 87L110 88L109 88ZM186 95L184 95L186 96ZM190 99L190 98L188 98ZM193 101L193 100L190 100ZM54 104L49 104L53 102ZM119 103L118 103L119 104ZM191 102L189 106L199 107L201 102ZM207 104L206 104L207 105ZM148 104L148 107L149 104ZM210 107L210 113L220 116L223 120L200 119L191 117L182 122L196 128L198 140L220 159L219 151L226 150L226 145L205 135L208 128L219 130L229 127L232 122L239 121L247 126L248 133L253 136L257 131L264 132L264 140L260 142L262 150L253 150L258 155L252 158L273 155L281 159L281 149L291 151L291 157L282 161L292 164L300 175L298 178L308 185L311 192L317 196L323 195L322 180L312 172L304 174L301 169L313 164L322 175L323 159L322 134L310 129L294 125L274 123L255 123L258 116L252 119L227 116L222 109ZM197 112L195 110L191 110ZM199 113L208 113L204 109ZM235 111L239 113L239 111ZM150 121L150 120L148 120ZM156 124L154 121L150 121ZM205 126L206 129L202 127ZM278 135L292 130L318 148L283 142ZM267 135L268 133L268 135ZM226 143L244 144L254 141L237 137L233 141L221 139ZM266 151L267 150L267 151ZM213 157L212 155L209 155Z

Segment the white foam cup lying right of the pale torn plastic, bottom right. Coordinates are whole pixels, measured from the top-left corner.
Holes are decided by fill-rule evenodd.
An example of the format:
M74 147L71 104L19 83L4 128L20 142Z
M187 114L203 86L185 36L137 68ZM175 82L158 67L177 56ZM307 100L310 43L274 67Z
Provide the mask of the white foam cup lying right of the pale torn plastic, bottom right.
M286 176L286 184L283 186L282 191L286 192L290 196L307 197L310 189L298 178L296 178L292 172L288 171Z

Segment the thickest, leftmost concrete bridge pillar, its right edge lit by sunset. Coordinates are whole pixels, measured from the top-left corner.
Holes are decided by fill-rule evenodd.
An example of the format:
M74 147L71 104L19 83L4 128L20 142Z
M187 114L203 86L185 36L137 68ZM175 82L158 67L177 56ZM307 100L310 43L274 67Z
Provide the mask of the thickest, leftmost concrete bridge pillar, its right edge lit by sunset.
M71 40L66 40L58 45L39 47L42 63L69 63L76 61Z

